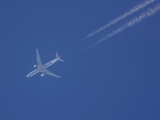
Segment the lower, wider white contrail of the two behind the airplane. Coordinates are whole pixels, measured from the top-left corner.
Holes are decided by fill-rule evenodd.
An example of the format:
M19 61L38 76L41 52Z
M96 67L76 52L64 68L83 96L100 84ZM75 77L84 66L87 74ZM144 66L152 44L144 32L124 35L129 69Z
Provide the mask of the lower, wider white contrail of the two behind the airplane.
M107 34L105 37L103 37L102 39L98 40L96 42L96 44L99 43L99 42L103 42L107 38L113 37L114 35L116 35L117 33L122 32L126 28L129 28L129 27L133 26L134 24L136 24L138 22L141 22L143 19L152 16L158 10L160 10L160 3L157 4L153 9L148 9L146 12L143 12L140 16L133 18L128 23L124 24L123 26L119 27L116 30L113 30L111 33Z

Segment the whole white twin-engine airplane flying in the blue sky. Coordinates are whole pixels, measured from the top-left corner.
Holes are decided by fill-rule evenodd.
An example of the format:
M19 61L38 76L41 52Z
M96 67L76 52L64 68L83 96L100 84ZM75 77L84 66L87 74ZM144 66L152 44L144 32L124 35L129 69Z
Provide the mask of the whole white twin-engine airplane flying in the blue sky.
M34 65L33 67L37 68L37 69L31 71L26 77L32 77L33 75L35 75L37 73L41 73L41 77L43 77L45 74L47 74L47 75L50 75L50 76L53 76L53 77L56 77L56 78L60 78L60 76L58 76L58 75L50 72L49 70L47 70L47 68L49 66L53 65L57 61L64 62L64 60L62 60L60 58L60 56L58 55L57 52L56 52L56 58L47 62L47 63L45 63L44 65L41 62L41 58L40 58L40 55L39 55L39 52L38 52L38 48L36 49L36 57L37 57L37 64Z

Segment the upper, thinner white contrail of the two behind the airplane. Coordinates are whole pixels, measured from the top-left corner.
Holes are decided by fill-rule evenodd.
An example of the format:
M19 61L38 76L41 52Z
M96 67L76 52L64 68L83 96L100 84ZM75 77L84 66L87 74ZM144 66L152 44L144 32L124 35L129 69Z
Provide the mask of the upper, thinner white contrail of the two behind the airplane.
M106 29L107 27L109 27L109 26L117 23L118 21L124 19L125 17L131 15L132 13L139 11L140 9L144 8L145 6L147 6L148 4L150 4L150 3L154 2L154 1L155 0L146 0L143 3L138 3L135 7L133 7L132 9L130 9L128 12L126 12L123 15L117 17L116 19L110 21L108 24L104 25L103 27L99 28L98 30L94 31L93 33L88 34L82 40L85 40L85 39L87 39L87 38L89 38L89 37L91 37L91 36L99 33L100 31L102 31L102 30Z

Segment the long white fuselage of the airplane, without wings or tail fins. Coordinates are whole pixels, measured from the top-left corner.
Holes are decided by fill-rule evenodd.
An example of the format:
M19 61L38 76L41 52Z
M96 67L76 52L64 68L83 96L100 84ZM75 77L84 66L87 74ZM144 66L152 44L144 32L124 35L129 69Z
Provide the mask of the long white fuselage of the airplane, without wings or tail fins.
M57 62L59 59L60 59L60 57L57 57L57 58L55 58L55 59L53 59L53 60L45 63L45 64L42 65L41 67L39 67L39 68L31 71L31 72L27 75L27 77L31 77L31 76L39 73L39 72L42 72L44 69L48 68L49 66L51 66L51 65L53 65L55 62Z

